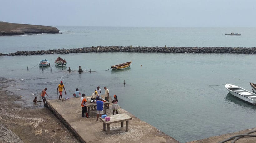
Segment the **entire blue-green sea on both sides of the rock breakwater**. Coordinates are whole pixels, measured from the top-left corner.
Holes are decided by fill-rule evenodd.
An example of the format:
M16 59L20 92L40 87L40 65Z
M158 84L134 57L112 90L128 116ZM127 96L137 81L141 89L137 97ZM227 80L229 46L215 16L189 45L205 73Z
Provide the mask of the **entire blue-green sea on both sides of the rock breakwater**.
M0 53L100 45L256 47L256 28L55 27L62 34L1 36ZM241 36L224 35L231 30ZM54 65L59 56L66 59L66 67ZM43 59L51 67L39 67ZM63 81L64 98L73 98L76 88L91 96L100 86L104 94L106 86L111 97L117 95L121 108L181 143L255 127L256 107L229 95L224 87L231 83L252 91L249 82L256 83L253 54L108 52L0 56L0 60L0 78L12 81L7 90L22 98L20 104L27 108L43 108L33 99L45 87L47 100L57 99L57 87ZM132 61L128 69L110 69L128 61ZM83 73L78 72L79 66Z

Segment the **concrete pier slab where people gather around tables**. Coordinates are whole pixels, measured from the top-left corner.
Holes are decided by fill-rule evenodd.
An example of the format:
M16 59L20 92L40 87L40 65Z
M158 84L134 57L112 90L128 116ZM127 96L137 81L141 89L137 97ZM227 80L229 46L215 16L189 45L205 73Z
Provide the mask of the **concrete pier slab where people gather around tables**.
M87 97L85 97L87 99ZM111 100L110 100L111 101ZM103 123L96 121L97 111L91 111L91 117L82 117L80 98L68 100L47 100L47 108L70 130L70 132L81 142L168 142L179 143L172 137L166 135L152 125L141 121L124 109L119 109L118 114L126 113L132 120L129 121L129 131L121 127L120 123L113 123L110 134L102 130ZM112 104L106 109L107 115L112 115ZM116 113L115 113L116 114Z

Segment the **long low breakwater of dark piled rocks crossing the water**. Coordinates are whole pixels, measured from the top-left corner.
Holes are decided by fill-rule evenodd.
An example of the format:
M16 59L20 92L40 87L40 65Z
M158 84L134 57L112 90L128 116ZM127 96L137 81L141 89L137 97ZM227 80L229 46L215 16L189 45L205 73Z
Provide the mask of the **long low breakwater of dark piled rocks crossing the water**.
M0 56L69 54L91 52L137 52L137 53L218 53L218 54L256 54L256 47L132 47L132 46L97 46L73 49L55 49L41 51L17 51Z

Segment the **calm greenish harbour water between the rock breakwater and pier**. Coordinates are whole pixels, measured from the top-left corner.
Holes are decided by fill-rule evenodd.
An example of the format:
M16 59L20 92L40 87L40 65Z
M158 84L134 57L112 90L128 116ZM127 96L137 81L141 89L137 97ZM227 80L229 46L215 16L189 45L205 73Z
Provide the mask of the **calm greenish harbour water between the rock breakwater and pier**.
M68 61L66 68L54 65L58 56ZM52 71L37 65L45 58L50 60ZM76 88L87 96L98 85L103 93L103 87L108 87L111 96L118 95L123 109L180 142L254 127L256 108L229 95L224 84L234 83L251 90L249 82L255 83L255 55L82 53L0 59L5 61L0 77L14 79L16 83L10 89L22 95L31 108L35 107L32 98L45 87L47 99L56 99L57 85L62 80L68 92L64 97L72 97ZM129 69L109 69L130 60L133 62ZM86 72L79 74L78 66Z

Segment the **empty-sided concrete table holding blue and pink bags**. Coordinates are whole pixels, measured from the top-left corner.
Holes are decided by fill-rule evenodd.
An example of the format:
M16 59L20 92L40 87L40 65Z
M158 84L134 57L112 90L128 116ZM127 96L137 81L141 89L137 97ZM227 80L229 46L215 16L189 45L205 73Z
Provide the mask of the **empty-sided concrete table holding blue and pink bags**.
M130 116L123 113L123 114L111 115L107 117L110 117L109 121L106 121L104 118L100 118L100 120L103 122L103 131L106 130L106 124L107 124L107 134L110 134L110 124L121 122L121 127L124 127L124 121L126 121L126 132L128 131L129 120L132 119Z

